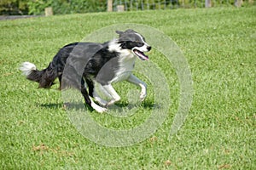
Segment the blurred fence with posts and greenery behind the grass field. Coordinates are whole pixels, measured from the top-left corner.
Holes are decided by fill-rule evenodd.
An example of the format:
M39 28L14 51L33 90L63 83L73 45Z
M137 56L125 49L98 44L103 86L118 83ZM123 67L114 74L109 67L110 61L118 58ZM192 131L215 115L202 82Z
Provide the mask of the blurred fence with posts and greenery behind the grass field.
M173 8L210 8L252 6L255 0L0 0L0 14L74 14L104 11L134 11Z

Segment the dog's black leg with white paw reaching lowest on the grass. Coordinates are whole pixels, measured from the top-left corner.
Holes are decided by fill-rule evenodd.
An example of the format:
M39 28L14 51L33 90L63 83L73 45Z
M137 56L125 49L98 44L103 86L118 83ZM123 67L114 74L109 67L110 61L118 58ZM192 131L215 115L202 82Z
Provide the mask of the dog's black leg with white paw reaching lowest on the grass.
M96 103L94 103L93 99L91 99L91 97L89 96L86 88L84 87L84 80L82 79L82 82L81 82L81 93L83 94L84 96L84 100L85 100L85 103L87 105L90 105L93 109L95 109L97 112L104 112L104 111L107 111L106 108L103 108L99 105L96 105Z

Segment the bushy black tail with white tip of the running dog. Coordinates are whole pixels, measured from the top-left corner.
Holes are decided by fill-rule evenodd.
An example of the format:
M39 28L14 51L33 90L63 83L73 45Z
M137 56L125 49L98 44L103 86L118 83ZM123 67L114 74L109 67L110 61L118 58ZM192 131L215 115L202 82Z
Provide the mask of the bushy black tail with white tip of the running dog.
M20 66L20 71L23 71L28 80L38 82L39 88L50 88L57 77L55 68L52 67L51 63L49 63L46 69L38 71L36 65L30 62L24 62Z

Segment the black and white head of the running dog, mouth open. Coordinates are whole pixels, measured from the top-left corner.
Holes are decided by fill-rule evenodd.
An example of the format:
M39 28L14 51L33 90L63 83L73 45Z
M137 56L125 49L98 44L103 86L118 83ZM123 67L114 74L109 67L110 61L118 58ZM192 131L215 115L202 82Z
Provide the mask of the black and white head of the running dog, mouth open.
M121 48L130 49L139 59L148 60L148 56L144 53L150 51L151 47L145 42L145 38L141 34L130 29L126 31L116 31L116 33L119 34Z

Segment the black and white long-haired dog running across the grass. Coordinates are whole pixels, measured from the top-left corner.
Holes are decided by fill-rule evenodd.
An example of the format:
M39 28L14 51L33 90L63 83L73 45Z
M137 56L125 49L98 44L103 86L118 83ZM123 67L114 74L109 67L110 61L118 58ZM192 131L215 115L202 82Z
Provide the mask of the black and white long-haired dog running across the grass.
M22 63L20 70L28 80L38 82L39 88L50 88L58 77L61 89L78 88L85 103L101 113L107 111L108 105L113 105L120 99L111 85L113 82L127 81L139 86L140 99L143 100L147 95L147 85L135 77L132 70L137 57L148 59L144 53L150 51L151 47L136 31L129 29L116 33L119 38L110 42L75 42L66 45L42 71L38 71L29 62ZM104 94L111 97L110 101L100 98L96 93L96 83Z

